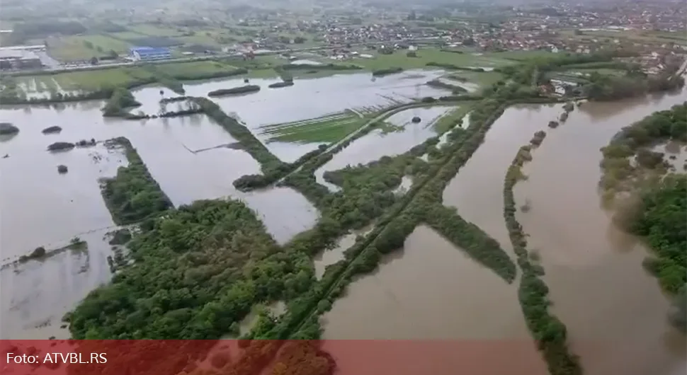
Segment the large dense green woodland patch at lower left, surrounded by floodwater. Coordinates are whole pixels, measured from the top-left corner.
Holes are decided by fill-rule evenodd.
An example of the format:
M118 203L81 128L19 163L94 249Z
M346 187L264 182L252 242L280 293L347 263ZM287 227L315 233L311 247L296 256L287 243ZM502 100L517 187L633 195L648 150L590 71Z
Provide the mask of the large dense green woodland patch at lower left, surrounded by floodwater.
M310 287L312 266L280 251L242 202L197 201L142 226L134 265L69 316L75 338L211 339L251 306Z

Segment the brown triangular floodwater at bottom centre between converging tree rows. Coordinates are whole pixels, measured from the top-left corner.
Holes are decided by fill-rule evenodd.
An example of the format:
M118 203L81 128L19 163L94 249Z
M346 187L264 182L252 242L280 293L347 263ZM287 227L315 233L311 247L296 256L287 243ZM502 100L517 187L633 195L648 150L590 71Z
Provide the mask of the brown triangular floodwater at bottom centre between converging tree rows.
M499 358L472 363L482 369L496 365L498 372L470 374L546 374L513 285L426 226L417 227L375 272L350 284L322 323L325 340L445 340L448 347L482 347ZM505 360L514 353L517 359Z

